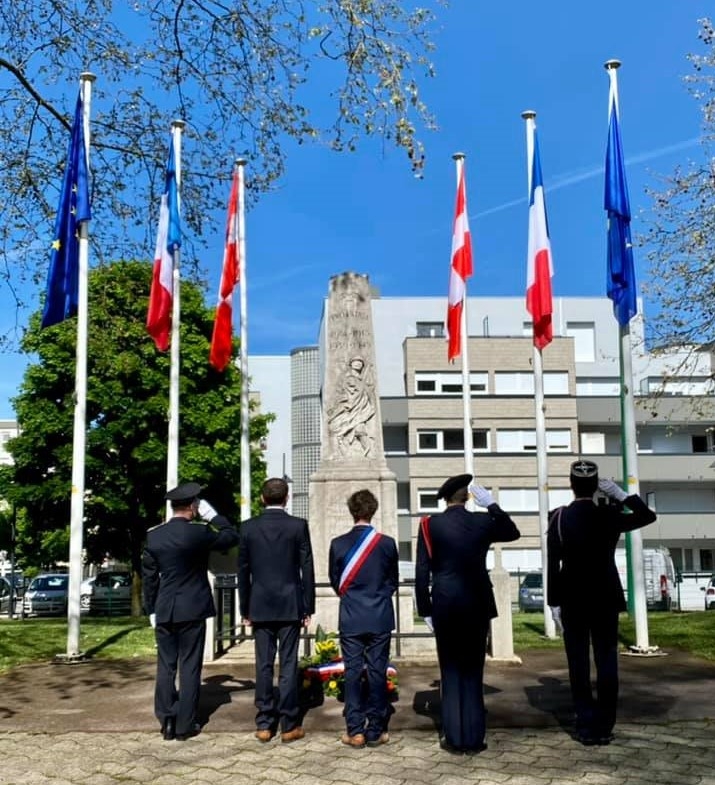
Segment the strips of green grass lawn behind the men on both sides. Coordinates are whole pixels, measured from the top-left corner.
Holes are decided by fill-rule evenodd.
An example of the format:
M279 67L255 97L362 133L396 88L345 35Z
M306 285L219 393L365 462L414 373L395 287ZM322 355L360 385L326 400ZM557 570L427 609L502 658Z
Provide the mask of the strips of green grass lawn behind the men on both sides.
M421 623L421 620L418 620ZM514 613L514 651L562 648L563 641L544 638L540 613ZM633 621L621 616L621 643L635 643ZM715 612L649 613L651 645L664 651L681 650L715 662ZM0 673L28 662L47 662L67 650L65 618L0 620ZM156 656L154 632L146 617L82 617L80 650L96 658L131 659Z

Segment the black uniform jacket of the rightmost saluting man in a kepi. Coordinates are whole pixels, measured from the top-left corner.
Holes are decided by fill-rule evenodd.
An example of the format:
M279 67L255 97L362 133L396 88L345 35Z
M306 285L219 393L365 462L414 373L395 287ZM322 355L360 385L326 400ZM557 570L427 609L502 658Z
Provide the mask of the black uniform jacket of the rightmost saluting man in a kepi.
M614 559L618 539L623 532L653 523L655 513L638 495L607 506L575 499L559 509L549 515L546 535L548 604L626 610Z

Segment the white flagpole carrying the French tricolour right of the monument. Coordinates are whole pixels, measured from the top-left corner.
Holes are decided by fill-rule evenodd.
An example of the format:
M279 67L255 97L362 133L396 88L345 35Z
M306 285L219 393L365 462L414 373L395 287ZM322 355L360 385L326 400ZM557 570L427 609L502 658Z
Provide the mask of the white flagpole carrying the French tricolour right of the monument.
M536 112L531 109L521 113L526 121L527 194L531 196L532 161L534 160L534 126ZM541 543L541 579L544 590L544 635L556 637L556 624L551 616L547 601L547 546L546 532L549 526L549 469L546 451L546 409L544 403L544 368L541 349L533 347L534 362L534 425L536 428L536 481L539 503L539 539Z

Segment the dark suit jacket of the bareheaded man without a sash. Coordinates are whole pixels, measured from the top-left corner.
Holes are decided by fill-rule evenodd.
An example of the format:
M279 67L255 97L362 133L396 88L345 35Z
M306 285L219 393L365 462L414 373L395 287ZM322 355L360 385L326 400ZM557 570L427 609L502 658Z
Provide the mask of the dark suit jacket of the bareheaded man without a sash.
M241 524L241 616L252 622L301 621L315 613L315 572L308 522L277 507Z

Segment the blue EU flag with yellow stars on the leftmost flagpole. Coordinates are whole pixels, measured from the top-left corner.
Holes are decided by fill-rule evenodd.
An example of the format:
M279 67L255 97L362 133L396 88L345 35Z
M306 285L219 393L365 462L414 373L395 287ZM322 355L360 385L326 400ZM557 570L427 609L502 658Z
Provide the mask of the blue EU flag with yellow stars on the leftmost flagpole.
M77 313L79 298L79 224L91 218L89 206L89 174L82 118L82 91L72 126L67 151L67 165L62 181L60 204L55 219L55 232L47 275L42 326L49 327Z

